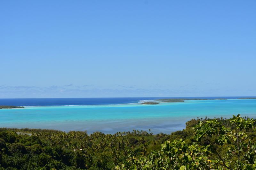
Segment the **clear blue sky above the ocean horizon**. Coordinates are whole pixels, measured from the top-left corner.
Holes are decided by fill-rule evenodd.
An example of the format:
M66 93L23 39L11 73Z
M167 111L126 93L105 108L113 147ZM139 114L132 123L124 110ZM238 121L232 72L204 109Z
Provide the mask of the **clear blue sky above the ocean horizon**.
M0 98L256 96L256 1L0 1Z

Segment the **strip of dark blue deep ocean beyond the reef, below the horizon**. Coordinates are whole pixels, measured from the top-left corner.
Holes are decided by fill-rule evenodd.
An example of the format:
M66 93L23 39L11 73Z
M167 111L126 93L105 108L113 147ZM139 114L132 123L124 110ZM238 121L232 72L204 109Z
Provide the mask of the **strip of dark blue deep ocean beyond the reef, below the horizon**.
M163 98L199 98L199 99L238 99L248 96L236 97L112 97L112 98L31 98L31 99L0 99L0 105L8 106L79 106L79 105L109 105L141 103L144 100L156 100ZM250 96L252 97L252 96Z

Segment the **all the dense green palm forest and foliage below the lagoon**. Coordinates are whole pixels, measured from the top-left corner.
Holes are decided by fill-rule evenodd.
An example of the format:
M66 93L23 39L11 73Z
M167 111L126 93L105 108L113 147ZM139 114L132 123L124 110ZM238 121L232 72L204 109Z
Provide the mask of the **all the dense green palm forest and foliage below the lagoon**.
M0 170L255 170L255 120L197 117L182 131L156 135L0 128Z

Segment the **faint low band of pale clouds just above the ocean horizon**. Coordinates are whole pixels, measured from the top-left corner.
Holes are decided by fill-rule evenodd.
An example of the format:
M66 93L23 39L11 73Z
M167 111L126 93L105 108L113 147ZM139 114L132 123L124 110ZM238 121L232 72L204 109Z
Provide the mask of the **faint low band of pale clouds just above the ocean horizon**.
M0 86L0 98L72 98L72 97L193 97L193 96L255 96L255 90L239 90L228 88L191 88L184 86L164 87L150 85L137 87L135 85L113 85L104 88L96 85L74 86Z

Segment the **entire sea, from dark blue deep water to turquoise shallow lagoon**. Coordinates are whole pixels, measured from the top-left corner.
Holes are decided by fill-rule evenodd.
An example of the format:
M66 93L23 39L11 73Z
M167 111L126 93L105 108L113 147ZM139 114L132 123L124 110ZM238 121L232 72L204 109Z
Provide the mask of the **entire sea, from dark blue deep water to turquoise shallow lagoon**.
M24 106L0 109L0 127L41 128L61 131L101 131L105 134L143 130L167 133L186 128L193 118L256 118L256 99L236 97L129 97L0 99L0 105ZM179 103L141 105L161 98L227 98L190 100Z

